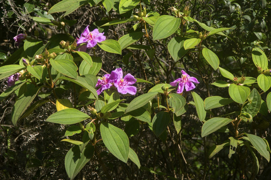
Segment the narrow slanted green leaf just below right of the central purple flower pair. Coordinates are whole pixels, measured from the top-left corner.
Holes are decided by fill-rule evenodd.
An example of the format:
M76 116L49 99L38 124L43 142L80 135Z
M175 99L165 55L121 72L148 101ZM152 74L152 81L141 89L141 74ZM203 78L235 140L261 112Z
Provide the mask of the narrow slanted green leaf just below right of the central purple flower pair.
M148 92L148 93L144 93L142 95L139 95L137 97L135 97L127 106L125 112L128 113L134 109L137 109L139 107L142 107L143 105L145 105L148 101L150 101L151 99L153 99L156 95L158 94L158 92Z

